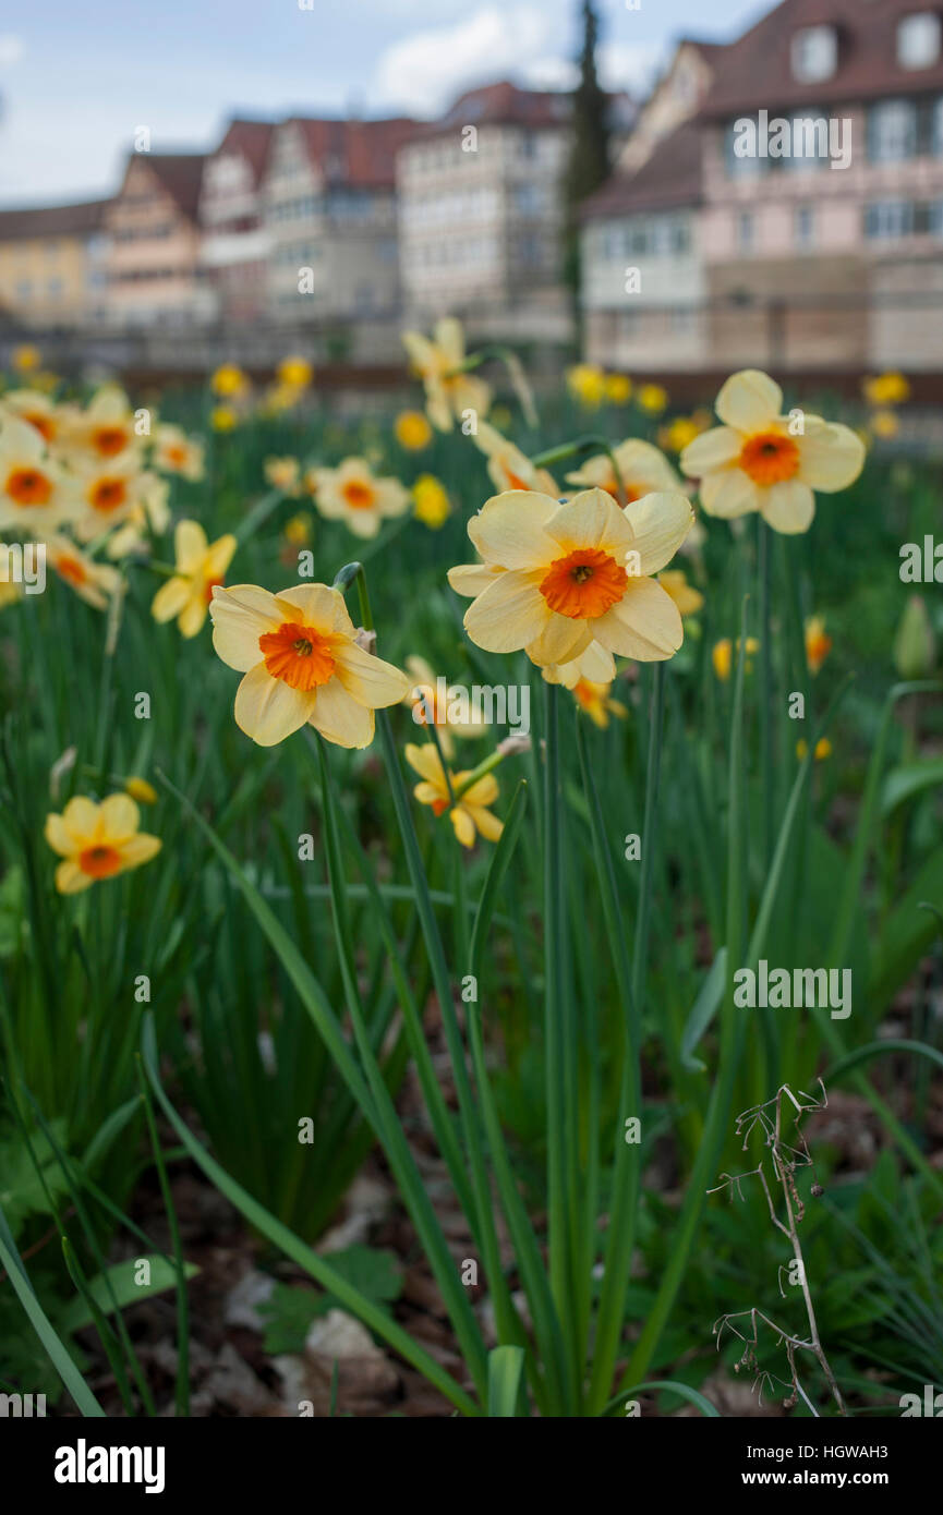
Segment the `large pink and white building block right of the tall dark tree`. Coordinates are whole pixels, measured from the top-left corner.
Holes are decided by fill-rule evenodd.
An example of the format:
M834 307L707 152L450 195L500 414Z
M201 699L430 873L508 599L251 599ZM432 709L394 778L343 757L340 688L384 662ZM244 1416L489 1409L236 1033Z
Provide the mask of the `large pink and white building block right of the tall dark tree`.
M938 370L941 32L919 0L784 0L703 53L687 123L585 206L588 356Z

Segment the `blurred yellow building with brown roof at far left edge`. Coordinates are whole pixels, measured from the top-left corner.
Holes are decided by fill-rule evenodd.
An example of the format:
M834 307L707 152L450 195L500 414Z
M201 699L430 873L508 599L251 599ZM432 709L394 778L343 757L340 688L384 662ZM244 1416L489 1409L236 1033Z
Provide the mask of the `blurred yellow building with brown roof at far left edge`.
M105 200L0 211L0 308L24 326L105 318Z

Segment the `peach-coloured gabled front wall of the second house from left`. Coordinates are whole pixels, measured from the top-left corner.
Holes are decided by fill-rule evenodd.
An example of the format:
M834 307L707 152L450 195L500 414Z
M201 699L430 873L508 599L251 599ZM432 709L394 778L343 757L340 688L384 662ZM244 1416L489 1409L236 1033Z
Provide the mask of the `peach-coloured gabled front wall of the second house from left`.
M118 326L185 324L212 317L197 280L200 235L141 153L106 214L108 315Z

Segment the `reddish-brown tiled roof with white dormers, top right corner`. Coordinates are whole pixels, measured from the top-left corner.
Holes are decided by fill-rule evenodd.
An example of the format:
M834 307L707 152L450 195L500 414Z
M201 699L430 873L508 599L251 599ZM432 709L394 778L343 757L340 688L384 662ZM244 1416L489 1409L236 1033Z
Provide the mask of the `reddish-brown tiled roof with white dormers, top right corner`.
M943 88L943 61L931 68L901 68L898 23L932 0L782 0L714 62L714 83L703 118L743 111L819 106L875 95L916 94ZM838 67L831 79L805 85L793 77L791 39L807 26L838 30Z

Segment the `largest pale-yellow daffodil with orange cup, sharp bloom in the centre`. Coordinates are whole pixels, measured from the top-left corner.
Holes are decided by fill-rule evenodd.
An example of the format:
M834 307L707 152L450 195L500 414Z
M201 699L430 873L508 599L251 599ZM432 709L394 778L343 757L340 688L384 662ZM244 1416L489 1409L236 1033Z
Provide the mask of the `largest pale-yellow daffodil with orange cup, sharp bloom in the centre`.
M565 504L499 494L468 521L484 571L449 570L458 594L481 585L465 630L485 651L523 648L540 667L572 662L593 641L640 662L672 658L684 641L681 615L652 576L693 521L682 494L647 494L625 511L603 489Z

